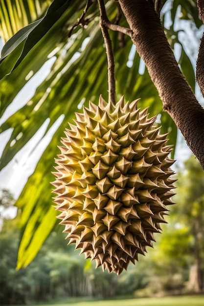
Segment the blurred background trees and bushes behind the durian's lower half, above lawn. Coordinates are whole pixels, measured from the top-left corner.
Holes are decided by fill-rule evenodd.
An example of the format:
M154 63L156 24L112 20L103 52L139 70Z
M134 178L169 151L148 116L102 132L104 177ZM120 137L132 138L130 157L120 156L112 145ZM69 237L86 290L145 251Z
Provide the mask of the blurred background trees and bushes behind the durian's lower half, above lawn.
M135 266L131 264L119 276L95 269L95 264L84 261L72 244L67 247L66 234L61 233L60 226L51 232L33 262L16 270L21 236L17 227L19 217L4 220L0 232L0 304L76 296L109 299L194 292L188 283L191 267L197 261L196 236L199 237L200 269L204 278L204 191L201 188L204 172L194 156L186 161L184 169L177 174L177 204L172 206L169 223L162 227L162 235L155 235L155 249L149 249L148 256L140 256ZM199 214L195 213L198 202L196 212ZM195 232L197 218L201 224Z

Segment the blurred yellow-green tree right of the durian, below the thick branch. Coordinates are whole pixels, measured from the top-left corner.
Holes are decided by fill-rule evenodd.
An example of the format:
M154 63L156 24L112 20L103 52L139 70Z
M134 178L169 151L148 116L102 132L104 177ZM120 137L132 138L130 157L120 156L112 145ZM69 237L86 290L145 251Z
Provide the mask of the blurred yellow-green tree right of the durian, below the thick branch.
M171 274L173 279L180 274L181 287L190 292L198 290L197 286L202 290L204 276L204 172L194 155L178 169L177 177L176 205L171 207L169 223L163 228L152 259L156 274ZM191 275L193 266L197 272Z

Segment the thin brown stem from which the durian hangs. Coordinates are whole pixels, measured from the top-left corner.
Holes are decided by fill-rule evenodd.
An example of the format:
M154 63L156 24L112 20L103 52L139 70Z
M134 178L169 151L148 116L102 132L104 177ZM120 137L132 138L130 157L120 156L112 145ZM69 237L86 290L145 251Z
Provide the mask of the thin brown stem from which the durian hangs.
M106 54L108 60L108 92L109 92L109 102L116 104L116 93L115 93L115 75L114 75L114 54L111 38L108 32L108 28L105 22L109 21L106 8L103 0L98 0L99 10L100 10L100 27L103 35L104 43L106 45Z

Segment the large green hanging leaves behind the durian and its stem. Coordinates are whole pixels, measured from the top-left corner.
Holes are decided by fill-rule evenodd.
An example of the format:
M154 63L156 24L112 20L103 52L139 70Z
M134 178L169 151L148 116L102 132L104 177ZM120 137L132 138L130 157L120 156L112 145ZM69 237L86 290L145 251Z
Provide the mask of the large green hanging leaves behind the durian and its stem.
M201 26L196 0L167 0L164 2L162 22L166 36L173 49L176 43L180 44L181 55L178 61L187 81L194 90L193 66L180 39L180 30L175 30L174 23L177 20L176 13L181 8L183 20L195 24L197 28ZM169 6L170 2L172 2L171 6ZM9 129L12 131L1 156L0 169L15 157L16 153L32 139L44 123L46 129L43 137L59 120L57 131L55 131L36 166L35 172L29 177L16 203L22 213L20 226L23 228L18 260L19 268L26 266L33 260L57 223L56 213L51 207L49 182L53 180L51 175L54 165L53 157L59 153L57 145L59 145L60 137L67 127L67 121L71 123L74 111L78 111L78 108L80 109L83 104L87 106L89 99L96 103L102 93L107 100L106 53L99 28L97 1L93 1L89 8L84 26L77 26L74 29L72 27L80 18L86 1L54 0L52 6L49 7L49 4L50 1L43 0L0 1L0 33L5 41L22 26L35 22L29 26L29 31L27 31L28 28L23 30L23 36L22 32L18 32L3 48L0 65L0 76L2 77L0 82L0 115L4 114L23 86L32 82L35 74L41 73L40 69L47 61L50 61L51 66L50 73L36 88L34 96L29 101L25 99L23 106L21 105L0 126L0 132ZM47 12L45 15L48 7L48 12L52 14ZM56 11L52 9L53 7L57 8ZM114 22L117 17L117 3L107 1L106 9L109 19ZM19 15L21 18L17 18ZM60 16L61 18L58 19ZM41 18L40 22L39 18ZM168 19L168 25L166 25ZM47 28L45 29L44 25L47 20ZM55 23L53 24L52 21ZM169 26L169 24L171 25ZM124 18L121 18L120 25L126 26ZM73 31L68 38L71 29ZM162 112L161 101L147 69L141 72L142 61L134 52L131 40L124 36L121 39L121 35L116 32L110 34L115 56L117 98L125 95L126 101L131 101L140 97L142 108L148 106L151 115L161 114L161 132L169 131L170 143L175 144L177 128L169 115ZM22 50L23 53L21 53ZM4 76L11 70L13 72L10 75Z

